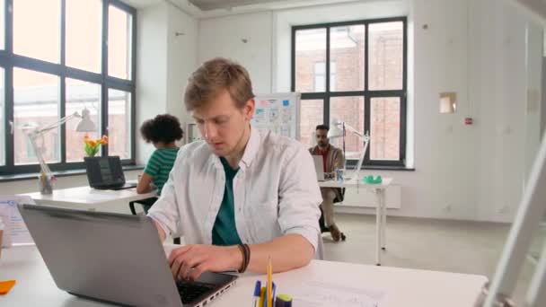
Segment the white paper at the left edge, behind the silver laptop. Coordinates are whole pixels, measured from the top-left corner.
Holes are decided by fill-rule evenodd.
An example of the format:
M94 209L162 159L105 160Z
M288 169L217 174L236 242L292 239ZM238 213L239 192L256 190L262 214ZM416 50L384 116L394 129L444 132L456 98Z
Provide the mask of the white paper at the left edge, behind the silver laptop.
M0 218L6 226L2 241L3 247L34 243L31 233L22 221L17 204L35 205L32 198L28 196L0 196Z

